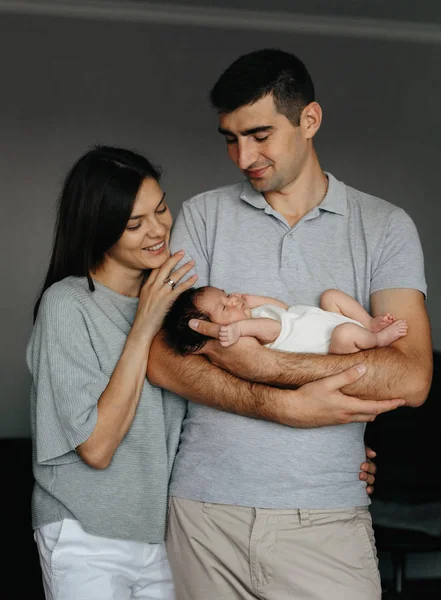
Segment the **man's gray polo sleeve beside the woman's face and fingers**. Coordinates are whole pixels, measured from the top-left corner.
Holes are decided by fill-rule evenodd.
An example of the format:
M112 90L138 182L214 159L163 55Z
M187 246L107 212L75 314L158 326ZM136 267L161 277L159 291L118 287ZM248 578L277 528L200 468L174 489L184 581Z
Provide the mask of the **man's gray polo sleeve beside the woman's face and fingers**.
M210 275L206 220L201 209L202 206L197 205L196 199L185 202L176 217L170 239L172 253L185 250L180 265L191 259L195 261L194 268L182 281L197 273L197 287L208 285Z

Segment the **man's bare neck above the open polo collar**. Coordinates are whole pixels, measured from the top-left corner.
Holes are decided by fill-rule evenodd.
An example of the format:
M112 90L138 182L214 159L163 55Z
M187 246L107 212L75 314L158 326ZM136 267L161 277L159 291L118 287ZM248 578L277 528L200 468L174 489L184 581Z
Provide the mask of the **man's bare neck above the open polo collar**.
M318 159L311 161L300 175L283 190L266 192L265 200L280 213L291 227L323 202L328 191L328 178Z

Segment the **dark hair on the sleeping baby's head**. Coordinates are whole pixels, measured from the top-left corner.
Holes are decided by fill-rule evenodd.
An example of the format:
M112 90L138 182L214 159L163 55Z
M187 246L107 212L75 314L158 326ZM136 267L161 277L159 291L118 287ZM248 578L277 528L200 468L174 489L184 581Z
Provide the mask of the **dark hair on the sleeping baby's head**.
M209 315L197 306L197 299L207 289L206 286L190 288L182 292L170 307L162 323L165 340L172 350L185 356L205 346L211 338L191 329L190 319L210 321Z

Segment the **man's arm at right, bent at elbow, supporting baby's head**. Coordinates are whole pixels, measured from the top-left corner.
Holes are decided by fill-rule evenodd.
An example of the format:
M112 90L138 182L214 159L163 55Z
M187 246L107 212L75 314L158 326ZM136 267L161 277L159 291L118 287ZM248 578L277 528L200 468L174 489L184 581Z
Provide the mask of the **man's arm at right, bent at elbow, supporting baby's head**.
M256 340L242 338L230 348L217 342L204 352L214 364L239 377L274 386L296 388L363 363L367 374L343 388L358 398L404 398L408 406L425 401L432 379L432 343L424 296L411 289L389 289L371 296L372 315L392 313L409 324L407 336L386 348L348 355L295 354L269 350ZM201 333L210 335L202 322Z

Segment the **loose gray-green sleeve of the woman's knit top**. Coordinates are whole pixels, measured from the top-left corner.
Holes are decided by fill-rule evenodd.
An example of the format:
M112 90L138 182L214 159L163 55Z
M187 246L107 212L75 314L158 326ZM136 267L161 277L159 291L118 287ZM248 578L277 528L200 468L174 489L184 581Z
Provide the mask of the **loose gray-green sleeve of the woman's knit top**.
M100 370L81 305L46 292L28 346L39 464L74 462L93 432L109 378Z

